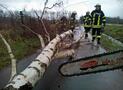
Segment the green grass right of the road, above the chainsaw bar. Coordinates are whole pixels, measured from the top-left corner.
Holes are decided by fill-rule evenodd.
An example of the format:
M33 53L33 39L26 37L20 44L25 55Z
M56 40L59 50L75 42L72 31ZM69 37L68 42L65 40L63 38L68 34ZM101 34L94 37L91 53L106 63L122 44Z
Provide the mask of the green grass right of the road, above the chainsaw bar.
M105 34L123 42L123 25L107 25L105 27ZM118 45L117 43L112 42L107 37L102 35L102 46L107 51L114 51L123 49L122 46Z

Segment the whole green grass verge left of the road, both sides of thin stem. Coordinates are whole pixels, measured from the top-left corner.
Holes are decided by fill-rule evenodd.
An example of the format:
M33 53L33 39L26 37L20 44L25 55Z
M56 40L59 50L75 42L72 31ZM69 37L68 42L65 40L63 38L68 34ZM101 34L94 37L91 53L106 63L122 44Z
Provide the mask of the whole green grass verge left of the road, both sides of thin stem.
M25 56L36 52L36 50L40 48L40 42L37 37L26 38L19 36L19 38L20 39L13 41L11 38L8 39L8 37L6 37L6 40L11 45L12 51L17 60L21 60ZM9 65L10 62L11 61L7 52L7 48L0 38L0 69Z

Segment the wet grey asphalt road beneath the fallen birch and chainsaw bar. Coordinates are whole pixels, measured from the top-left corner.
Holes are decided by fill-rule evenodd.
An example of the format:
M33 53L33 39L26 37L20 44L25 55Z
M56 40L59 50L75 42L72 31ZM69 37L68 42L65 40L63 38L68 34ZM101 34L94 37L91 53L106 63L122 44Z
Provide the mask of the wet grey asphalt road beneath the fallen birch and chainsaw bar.
M106 52L105 49L92 47L88 40L82 39L81 46L76 50L76 58L103 52ZM39 52L18 62L18 72L28 66L38 54ZM58 67L67 60L67 58L53 60L34 90L123 90L123 71L121 70L67 78L61 76ZM0 89L9 81L9 77L10 66L0 71Z

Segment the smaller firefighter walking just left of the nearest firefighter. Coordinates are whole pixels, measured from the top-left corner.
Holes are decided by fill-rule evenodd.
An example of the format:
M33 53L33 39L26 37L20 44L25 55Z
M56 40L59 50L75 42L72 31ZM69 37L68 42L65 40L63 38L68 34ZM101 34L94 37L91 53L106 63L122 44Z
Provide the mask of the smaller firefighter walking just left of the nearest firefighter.
M84 28L85 28L85 39L88 38L88 32L91 29L91 24L92 24L92 18L90 15L90 12L86 12L86 15L83 17L83 23L84 23Z

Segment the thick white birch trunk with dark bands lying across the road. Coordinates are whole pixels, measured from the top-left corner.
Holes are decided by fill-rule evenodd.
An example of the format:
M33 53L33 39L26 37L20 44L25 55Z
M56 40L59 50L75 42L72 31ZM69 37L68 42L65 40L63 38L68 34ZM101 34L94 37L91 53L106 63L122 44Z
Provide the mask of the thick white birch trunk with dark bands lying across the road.
M56 45L70 34L72 34L71 30L57 35L24 71L13 77L5 90L31 90L44 75L46 68L52 61Z

